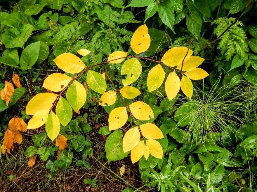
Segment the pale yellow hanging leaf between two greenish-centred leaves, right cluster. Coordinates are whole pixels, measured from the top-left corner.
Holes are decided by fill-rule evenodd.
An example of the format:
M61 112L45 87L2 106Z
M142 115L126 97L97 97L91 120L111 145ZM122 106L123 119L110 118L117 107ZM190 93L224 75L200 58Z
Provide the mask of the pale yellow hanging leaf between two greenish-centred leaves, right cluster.
M165 82L165 91L169 101L174 99L180 89L180 79L175 71L171 72Z

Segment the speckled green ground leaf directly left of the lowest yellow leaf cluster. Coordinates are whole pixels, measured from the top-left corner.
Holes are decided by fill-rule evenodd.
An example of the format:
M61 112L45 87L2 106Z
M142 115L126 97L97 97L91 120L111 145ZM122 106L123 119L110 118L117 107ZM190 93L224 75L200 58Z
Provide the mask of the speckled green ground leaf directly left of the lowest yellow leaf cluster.
M118 161L128 156L129 152L123 152L122 131L116 130L110 134L105 143L105 152L108 163Z

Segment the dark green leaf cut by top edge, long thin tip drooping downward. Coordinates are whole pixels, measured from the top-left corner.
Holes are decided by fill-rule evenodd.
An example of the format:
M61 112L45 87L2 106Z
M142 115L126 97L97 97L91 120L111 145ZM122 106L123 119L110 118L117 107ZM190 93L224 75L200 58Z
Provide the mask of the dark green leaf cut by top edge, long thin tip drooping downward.
M161 18L162 22L166 26L168 26L173 31L173 33L175 33L174 28L173 28L173 24L174 24L174 20L175 20L173 5L174 5L174 2L171 0L162 0L158 6L158 13L159 13L159 17Z

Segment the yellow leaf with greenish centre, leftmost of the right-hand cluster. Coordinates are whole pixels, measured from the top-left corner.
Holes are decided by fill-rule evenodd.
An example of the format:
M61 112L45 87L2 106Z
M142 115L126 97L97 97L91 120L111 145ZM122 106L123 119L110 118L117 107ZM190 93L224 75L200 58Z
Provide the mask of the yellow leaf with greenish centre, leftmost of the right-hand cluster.
M158 89L165 78L165 72L160 64L154 66L147 76L147 87L149 92Z

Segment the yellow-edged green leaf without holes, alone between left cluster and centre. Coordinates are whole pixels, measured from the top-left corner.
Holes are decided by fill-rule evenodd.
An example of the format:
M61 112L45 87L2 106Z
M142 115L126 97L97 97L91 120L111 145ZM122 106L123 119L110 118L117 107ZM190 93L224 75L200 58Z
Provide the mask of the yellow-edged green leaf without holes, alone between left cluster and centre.
M88 70L86 75L88 87L97 93L104 94L106 91L106 82L103 76L95 71Z

